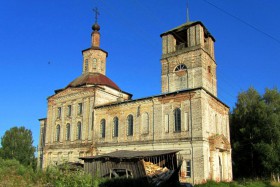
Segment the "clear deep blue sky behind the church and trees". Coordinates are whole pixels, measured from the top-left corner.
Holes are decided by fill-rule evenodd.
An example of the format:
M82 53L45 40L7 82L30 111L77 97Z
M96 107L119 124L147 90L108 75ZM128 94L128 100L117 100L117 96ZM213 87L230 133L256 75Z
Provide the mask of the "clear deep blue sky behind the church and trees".
M216 38L218 97L232 108L250 86L279 88L280 1L208 2L189 0L190 20ZM38 144L47 97L82 72L96 6L107 76L134 99L160 94L159 35L186 21L186 0L2 0L0 136L25 126Z

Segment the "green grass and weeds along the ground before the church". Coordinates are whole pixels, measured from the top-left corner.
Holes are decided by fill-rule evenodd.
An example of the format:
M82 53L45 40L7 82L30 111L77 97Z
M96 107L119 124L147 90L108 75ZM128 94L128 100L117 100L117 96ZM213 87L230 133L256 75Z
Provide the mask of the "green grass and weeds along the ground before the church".
M34 171L17 160L0 158L0 187L152 187L141 179L104 179L92 177L82 170L71 171L49 167L45 171ZM280 183L262 180L240 180L231 183L208 181L195 187L280 187Z

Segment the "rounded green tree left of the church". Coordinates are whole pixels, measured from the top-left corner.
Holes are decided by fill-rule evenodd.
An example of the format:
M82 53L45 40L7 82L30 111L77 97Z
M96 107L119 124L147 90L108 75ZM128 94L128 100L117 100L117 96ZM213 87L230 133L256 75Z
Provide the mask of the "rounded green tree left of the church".
M0 156L4 159L16 159L23 165L35 163L35 147L32 145L32 132L24 127L13 127L1 137Z

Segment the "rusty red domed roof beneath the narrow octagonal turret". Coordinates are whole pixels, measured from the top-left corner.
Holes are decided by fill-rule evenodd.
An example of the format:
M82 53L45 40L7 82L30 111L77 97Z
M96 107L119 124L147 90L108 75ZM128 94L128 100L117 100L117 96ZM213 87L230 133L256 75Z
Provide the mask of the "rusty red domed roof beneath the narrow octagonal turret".
M108 77L101 73L86 73L73 80L68 87L80 87L85 85L103 85L120 90L120 88Z

